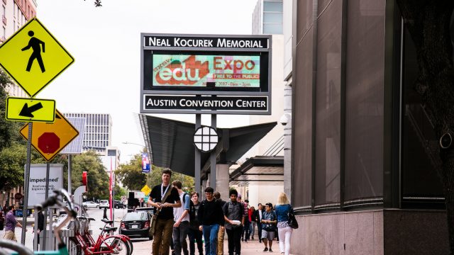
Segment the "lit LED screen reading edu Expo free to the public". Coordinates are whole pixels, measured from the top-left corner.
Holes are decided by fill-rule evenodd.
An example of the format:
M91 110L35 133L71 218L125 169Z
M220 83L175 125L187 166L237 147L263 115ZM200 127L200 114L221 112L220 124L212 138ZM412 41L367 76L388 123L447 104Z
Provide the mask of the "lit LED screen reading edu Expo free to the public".
M259 55L153 54L153 86L260 88Z

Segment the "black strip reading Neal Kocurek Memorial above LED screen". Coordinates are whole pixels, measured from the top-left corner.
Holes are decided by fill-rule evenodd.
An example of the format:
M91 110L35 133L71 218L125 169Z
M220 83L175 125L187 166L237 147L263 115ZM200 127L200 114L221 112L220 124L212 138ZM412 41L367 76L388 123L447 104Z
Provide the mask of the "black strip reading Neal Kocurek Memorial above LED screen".
M208 47L267 49L267 38L229 38L229 37L186 37L186 36L144 36L143 45L149 47Z

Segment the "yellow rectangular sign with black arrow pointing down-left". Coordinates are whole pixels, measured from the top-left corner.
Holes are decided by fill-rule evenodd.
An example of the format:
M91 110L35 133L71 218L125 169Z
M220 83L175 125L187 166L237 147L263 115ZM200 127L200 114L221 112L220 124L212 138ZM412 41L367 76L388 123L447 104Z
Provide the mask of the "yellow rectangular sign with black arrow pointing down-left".
M55 100L6 98L6 120L52 123L55 120Z

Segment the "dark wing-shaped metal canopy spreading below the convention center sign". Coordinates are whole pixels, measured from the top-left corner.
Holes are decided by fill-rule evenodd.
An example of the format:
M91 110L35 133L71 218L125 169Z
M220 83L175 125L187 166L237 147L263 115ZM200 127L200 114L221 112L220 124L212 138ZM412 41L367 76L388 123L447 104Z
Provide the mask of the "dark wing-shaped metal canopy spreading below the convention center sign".
M145 145L155 166L168 167L188 176L194 176L195 124L138 114ZM217 162L231 164L262 139L276 122L240 128L217 128L219 142L216 147ZM222 157L219 155L223 153ZM209 172L209 153L201 153L201 177ZM208 166L208 167L206 167Z

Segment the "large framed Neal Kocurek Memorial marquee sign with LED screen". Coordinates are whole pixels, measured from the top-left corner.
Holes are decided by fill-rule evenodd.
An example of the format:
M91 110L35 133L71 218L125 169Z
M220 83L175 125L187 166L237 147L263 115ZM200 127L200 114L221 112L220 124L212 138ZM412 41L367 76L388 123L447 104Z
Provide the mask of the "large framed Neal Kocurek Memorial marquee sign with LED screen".
M159 108L148 95L271 96L270 35L141 34L140 113L187 113L188 108ZM208 99L204 99L205 101ZM255 99L251 99L254 101ZM206 101L208 102L208 101ZM270 114L261 108L209 107L195 112L236 110L240 114ZM264 111L265 109L265 111Z

